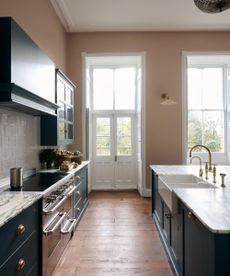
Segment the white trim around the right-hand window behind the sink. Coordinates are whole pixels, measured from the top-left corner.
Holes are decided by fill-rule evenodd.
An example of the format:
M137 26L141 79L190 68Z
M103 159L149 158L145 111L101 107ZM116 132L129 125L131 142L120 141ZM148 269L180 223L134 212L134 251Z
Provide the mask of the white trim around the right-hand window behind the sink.
M187 98L187 68L193 67L188 66L187 58L188 56L205 56L205 55L227 55L230 56L230 52L182 52L182 162L183 164L188 164L188 155L187 155L187 120L188 120L188 98ZM223 62L216 63L216 65L208 64L208 63L201 63L200 67L218 67L218 65L223 66ZM198 65L196 65L198 67ZM229 151L230 151L230 142L228 138L230 137L230 128L229 124L229 106L230 106L230 97L228 94L228 66L227 63L224 66L224 96L225 98L225 152L224 153L212 153L213 162L217 164L228 164L229 163ZM196 153L197 154L197 153ZM203 161L206 161L207 153L199 153L199 155Z

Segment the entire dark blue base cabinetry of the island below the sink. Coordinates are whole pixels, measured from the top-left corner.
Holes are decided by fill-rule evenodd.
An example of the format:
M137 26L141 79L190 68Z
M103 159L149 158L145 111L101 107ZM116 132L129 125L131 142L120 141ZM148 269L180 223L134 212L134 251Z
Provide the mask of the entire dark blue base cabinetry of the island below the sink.
M230 234L210 232L179 200L177 213L172 216L158 193L158 176L154 172L152 208L175 275L230 275Z

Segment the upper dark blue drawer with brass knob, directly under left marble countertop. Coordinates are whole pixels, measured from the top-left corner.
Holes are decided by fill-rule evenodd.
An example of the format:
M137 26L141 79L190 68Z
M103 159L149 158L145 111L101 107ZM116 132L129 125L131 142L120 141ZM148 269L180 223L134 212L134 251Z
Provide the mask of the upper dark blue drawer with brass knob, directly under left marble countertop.
M2 264L38 228L38 202L0 228ZM0 274L2 275L2 274Z

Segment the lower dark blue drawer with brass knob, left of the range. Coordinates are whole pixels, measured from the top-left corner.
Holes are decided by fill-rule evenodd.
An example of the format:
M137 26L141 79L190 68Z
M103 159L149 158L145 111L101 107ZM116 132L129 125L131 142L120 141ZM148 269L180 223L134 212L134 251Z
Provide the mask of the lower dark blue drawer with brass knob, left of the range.
M11 255L0 267L0 275L23 276L38 275L38 270L33 270L33 266L38 261L38 234L34 232L18 250Z

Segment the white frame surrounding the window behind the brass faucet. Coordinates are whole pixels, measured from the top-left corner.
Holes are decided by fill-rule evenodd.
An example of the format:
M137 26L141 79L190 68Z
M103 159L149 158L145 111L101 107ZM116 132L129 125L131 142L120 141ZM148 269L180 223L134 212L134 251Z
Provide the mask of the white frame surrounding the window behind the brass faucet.
M230 52L222 52L222 53L191 53L191 52L183 52L182 54L182 153L183 153L183 164L189 164L188 157L188 88L187 88L187 68L212 68L212 67L222 67L223 68L223 100L224 100L224 152L212 153L212 160L214 164L228 164L229 163L229 149L230 149L230 96L229 94L229 63L228 62L215 62L215 63L196 63L194 65L188 65L187 58L189 56L218 56L218 55L227 55L230 56ZM208 109L207 109L208 111ZM200 152L196 155L200 156L203 161L207 159L207 153Z

